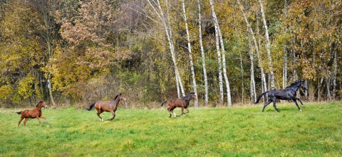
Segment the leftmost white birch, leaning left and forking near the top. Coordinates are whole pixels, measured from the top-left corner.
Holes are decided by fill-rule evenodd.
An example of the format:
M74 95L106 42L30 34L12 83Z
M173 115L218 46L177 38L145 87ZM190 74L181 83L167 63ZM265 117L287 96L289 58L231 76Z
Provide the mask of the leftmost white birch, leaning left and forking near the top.
M162 6L160 5L159 0L147 0L147 3L151 6L152 11L155 12L155 15L157 18L160 19L161 25L164 28L165 35L167 36L167 42L169 43L170 53L173 61L173 65L175 66L175 77L176 77L176 84L177 89L180 87L180 91L182 92L182 96L185 96L184 87L182 83L182 79L180 77L180 72L178 71L177 63L176 63L176 56L175 56L175 44L173 43L172 38L172 29L171 29L171 23L170 23L170 14L168 13L168 2L165 0L166 5L166 15L164 13L164 10L162 9ZM179 85L179 86L178 86ZM178 97L180 97L180 92L178 92Z

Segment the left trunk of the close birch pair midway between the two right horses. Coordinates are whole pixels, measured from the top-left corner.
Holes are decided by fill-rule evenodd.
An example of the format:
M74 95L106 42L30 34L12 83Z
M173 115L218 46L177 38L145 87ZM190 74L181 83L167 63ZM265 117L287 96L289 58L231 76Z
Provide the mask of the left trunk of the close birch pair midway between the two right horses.
M217 61L219 65L219 95L221 96L220 98L220 104L223 104L224 102L224 95L223 95L223 78L222 78L222 59L221 59L221 52L219 48L219 28L216 23L217 18L216 18L216 13L214 11L214 4L212 0L209 0L210 6L212 8L212 18L214 21L214 26L215 26L215 41L216 41L216 50L217 50Z

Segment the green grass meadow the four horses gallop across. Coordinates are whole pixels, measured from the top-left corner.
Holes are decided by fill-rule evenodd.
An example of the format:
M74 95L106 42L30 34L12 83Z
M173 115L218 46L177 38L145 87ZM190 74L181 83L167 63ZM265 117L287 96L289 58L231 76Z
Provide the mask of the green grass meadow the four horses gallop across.
M342 156L341 102L277 107L190 108L177 118L165 107L119 108L104 122L95 110L42 109L50 125L26 127L17 127L22 109L0 109L0 156Z

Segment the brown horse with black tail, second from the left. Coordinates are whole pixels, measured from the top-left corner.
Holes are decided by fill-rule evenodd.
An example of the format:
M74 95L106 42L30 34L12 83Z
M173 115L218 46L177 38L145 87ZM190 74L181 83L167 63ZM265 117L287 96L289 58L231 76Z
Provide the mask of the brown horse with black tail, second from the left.
M118 109L118 104L120 100L127 101L127 99L123 96L123 94L117 94L114 99L110 101L98 101L90 105L88 111L93 109L95 107L96 110L98 110L98 117L100 117L100 114L103 112L111 112L113 114L113 117L111 119L108 119L108 121L111 121L115 118L115 112L116 109ZM100 121L103 121L102 117L100 117Z

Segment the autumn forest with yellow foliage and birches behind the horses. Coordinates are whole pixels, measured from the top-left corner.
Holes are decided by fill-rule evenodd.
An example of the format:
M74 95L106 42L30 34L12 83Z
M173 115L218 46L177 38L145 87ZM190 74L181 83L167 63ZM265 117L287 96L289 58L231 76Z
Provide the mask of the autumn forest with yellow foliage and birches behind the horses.
M341 100L341 0L0 0L0 104L252 104L306 80Z

